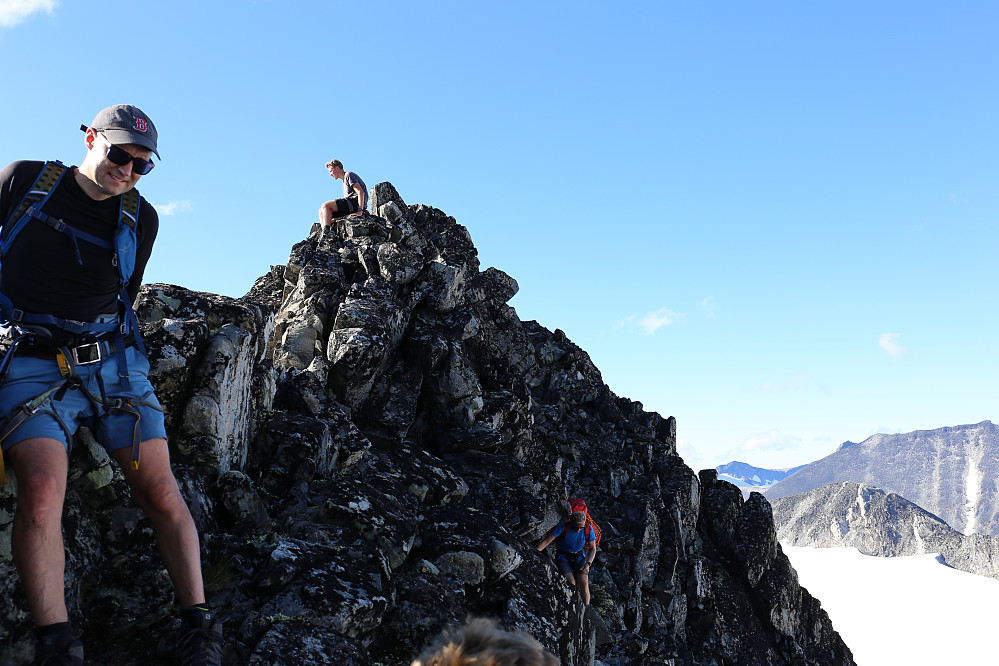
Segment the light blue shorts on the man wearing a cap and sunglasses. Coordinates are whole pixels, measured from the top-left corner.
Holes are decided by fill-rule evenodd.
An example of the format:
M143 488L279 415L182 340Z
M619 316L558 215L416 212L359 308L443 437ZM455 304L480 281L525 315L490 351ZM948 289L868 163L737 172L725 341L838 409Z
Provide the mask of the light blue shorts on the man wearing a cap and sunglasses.
M131 384L129 390L121 385L118 362L114 356L106 357L99 363L79 365L76 375L83 385L66 390L61 396L59 391L50 394L47 405L39 408L3 440L3 450L32 437L56 439L68 449L72 436L81 425L94 433L108 453L131 446L136 427L140 442L165 438L163 408L149 382L149 361L135 347L125 349L125 358ZM127 398L131 407L101 409L102 393L98 376L104 381L104 395L109 403ZM59 373L54 358L15 357L11 360L7 377L0 384L0 419L6 420L21 405L65 383L66 378ZM88 391L97 404L87 396Z

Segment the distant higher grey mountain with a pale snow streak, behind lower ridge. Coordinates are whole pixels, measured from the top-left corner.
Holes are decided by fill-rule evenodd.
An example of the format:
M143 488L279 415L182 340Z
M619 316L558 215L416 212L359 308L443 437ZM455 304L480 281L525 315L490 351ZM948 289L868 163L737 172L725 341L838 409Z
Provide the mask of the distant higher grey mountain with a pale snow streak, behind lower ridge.
M847 442L849 444L849 442ZM964 534L999 535L999 428L974 425L874 435L844 444L764 492L774 500L830 483L897 493Z

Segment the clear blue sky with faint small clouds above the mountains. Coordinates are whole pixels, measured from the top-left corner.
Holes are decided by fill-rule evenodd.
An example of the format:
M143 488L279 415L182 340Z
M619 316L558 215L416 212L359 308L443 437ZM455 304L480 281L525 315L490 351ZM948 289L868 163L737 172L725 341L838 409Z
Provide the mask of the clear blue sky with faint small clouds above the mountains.
M999 418L993 2L91 7L0 0L0 162L144 109L148 282L241 296L336 157L464 224L695 468Z

